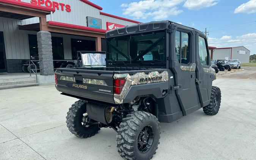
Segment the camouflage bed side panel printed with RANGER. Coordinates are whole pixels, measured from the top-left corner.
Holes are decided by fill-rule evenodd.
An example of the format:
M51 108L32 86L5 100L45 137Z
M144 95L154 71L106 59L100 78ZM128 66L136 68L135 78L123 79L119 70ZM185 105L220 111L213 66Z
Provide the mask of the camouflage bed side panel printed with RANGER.
M167 70L161 73L159 73L158 71L153 71L149 72L149 74L145 74L144 72L138 72L134 75L129 75L127 73L114 75L114 79L119 78L125 78L126 83L124 84L124 87L120 94L114 94L114 100L116 104L123 103L123 99L126 96L130 86L169 81L169 75Z

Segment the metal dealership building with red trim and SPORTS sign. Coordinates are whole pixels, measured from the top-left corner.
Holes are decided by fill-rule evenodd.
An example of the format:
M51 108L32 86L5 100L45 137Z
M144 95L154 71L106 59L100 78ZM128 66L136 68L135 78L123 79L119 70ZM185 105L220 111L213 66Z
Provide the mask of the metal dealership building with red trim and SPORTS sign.
M0 0L0 73L22 72L23 60L39 60L41 76L76 51L105 51L105 33L135 20L102 12L88 0Z

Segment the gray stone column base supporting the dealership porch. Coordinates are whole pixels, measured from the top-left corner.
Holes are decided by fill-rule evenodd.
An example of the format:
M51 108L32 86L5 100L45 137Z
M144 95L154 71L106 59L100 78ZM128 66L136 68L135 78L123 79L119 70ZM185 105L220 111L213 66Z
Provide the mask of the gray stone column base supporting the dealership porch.
M49 31L37 33L38 55L41 75L54 75L52 57L52 35Z

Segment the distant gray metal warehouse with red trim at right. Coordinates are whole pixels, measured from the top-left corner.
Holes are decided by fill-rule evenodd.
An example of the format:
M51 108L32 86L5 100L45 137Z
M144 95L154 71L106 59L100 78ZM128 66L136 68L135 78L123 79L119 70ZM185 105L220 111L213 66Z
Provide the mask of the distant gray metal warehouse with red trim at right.
M239 61L241 61L242 63L249 63L250 50L248 50L244 46L216 48L213 50L211 58L213 60L239 59Z

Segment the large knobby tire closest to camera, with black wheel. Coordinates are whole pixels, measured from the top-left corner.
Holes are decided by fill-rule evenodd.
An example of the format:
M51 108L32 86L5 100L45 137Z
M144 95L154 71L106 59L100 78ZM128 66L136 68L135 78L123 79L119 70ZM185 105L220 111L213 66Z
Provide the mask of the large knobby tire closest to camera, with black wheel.
M160 139L157 118L147 112L132 112L123 119L116 136L118 152L127 160L149 160L156 153Z

